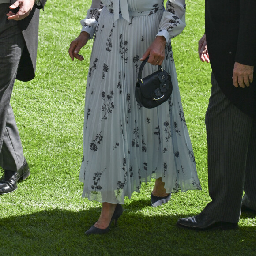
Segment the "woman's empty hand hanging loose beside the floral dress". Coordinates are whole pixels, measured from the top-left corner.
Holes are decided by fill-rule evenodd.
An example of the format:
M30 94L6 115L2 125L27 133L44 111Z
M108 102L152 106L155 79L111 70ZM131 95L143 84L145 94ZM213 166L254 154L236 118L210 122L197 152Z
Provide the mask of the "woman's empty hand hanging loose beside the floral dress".
M90 35L87 32L83 31L81 32L81 34L79 34L77 38L75 38L75 40L71 42L68 53L72 60L74 60L74 58L80 61L84 60L83 56L78 53L80 49L87 44L89 39Z

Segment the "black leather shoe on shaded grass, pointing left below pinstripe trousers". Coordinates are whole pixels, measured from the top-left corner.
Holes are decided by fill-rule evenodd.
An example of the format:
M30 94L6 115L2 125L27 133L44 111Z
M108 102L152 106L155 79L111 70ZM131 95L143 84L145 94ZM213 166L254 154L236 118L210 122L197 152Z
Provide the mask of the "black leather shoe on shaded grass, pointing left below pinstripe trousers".
M218 221L210 216L200 213L193 217L180 218L177 221L177 226L181 228L191 229L191 230L230 230L238 227L238 223Z

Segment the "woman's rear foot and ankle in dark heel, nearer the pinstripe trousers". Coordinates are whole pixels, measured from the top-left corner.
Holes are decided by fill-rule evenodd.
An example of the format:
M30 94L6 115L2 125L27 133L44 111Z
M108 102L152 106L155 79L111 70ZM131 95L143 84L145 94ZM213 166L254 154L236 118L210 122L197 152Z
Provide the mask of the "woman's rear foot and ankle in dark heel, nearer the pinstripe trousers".
M164 203L167 203L171 198L171 194L166 193L165 183L162 182L162 178L155 180L154 189L151 193L151 206L158 207Z

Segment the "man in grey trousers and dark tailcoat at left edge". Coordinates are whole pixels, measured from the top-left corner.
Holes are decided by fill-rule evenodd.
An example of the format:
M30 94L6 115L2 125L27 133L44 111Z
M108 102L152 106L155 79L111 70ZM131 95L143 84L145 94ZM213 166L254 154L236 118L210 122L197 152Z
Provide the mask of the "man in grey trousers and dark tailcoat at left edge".
M46 0L0 0L0 194L17 189L30 175L10 105L15 78L35 76L39 10Z

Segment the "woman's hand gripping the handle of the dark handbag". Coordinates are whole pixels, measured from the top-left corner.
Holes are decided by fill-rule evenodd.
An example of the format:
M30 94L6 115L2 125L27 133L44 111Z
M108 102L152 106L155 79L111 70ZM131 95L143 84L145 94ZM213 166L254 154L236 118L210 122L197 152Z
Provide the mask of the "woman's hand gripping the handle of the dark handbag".
M163 36L157 36L154 42L149 46L147 51L143 54L141 61L145 60L149 56L148 63L152 65L162 65L165 59L165 47L166 38Z

